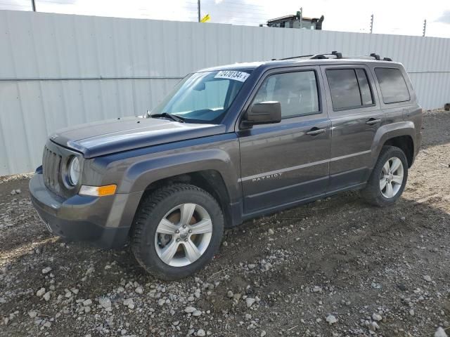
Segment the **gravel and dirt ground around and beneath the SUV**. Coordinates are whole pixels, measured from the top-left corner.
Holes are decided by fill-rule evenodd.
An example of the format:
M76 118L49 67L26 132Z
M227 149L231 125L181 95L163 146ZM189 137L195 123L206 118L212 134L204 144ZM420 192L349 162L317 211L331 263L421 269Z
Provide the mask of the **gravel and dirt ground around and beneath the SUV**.
M450 335L450 113L426 112L399 202L347 192L228 230L180 282L64 243L0 178L0 336Z

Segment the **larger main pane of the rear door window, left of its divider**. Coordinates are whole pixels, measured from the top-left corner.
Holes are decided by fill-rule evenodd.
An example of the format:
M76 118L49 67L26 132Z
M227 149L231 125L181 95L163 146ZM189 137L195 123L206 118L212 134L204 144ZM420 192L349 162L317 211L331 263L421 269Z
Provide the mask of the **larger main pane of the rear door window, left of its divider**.
M358 80L353 69L327 70L333 109L361 106Z

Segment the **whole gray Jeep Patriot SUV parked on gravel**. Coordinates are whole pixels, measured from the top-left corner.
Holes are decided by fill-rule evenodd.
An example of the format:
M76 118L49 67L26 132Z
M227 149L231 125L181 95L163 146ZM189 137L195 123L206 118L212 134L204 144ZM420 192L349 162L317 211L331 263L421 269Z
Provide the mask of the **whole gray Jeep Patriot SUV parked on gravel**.
M200 270L224 227L345 190L403 192L422 110L404 67L340 53L188 74L142 117L65 128L32 203L65 239L117 247L161 279Z

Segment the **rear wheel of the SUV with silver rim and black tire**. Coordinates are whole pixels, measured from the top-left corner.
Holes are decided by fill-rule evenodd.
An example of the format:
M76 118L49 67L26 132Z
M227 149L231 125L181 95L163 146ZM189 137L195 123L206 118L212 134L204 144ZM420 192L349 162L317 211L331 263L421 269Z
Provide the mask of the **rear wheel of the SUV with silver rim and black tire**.
M408 160L399 147L383 146L361 195L373 206L390 206L403 193L408 180Z

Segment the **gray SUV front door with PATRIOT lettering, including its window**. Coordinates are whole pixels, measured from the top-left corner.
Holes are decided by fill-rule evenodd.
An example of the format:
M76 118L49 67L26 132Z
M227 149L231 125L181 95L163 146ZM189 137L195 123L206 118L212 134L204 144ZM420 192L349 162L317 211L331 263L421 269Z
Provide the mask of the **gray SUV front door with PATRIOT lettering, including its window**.
M238 131L244 213L296 204L326 192L330 121L319 67L272 70L252 104L281 103L281 123Z

